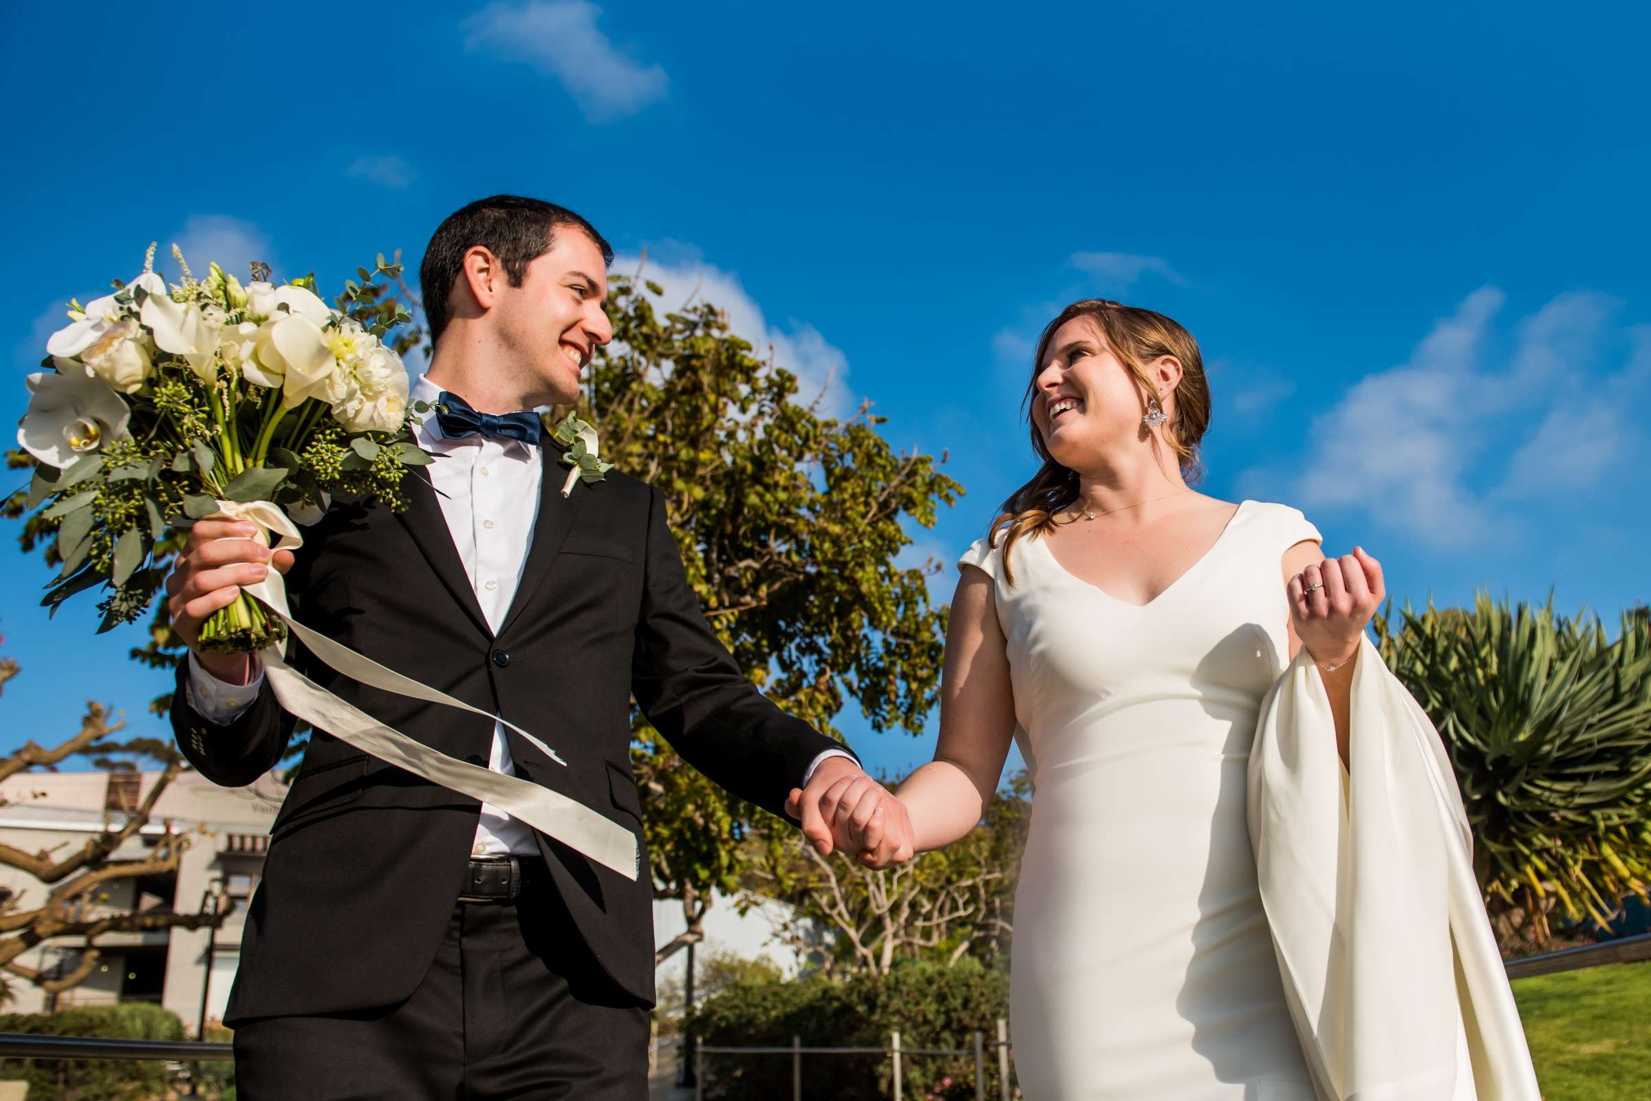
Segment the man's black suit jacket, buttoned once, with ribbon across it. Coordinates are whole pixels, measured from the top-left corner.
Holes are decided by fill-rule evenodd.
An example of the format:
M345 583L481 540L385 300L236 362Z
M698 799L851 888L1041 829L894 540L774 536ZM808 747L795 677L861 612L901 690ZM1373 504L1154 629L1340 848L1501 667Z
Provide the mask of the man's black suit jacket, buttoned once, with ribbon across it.
M588 952L619 997L652 1002L652 885L631 776L631 700L692 766L783 814L791 787L835 741L784 715L741 675L687 584L664 502L617 470L561 497L566 467L543 447L527 566L495 636L423 472L411 505L335 503L305 530L287 576L294 616L358 654L532 731L568 766L507 730L517 774L637 835L636 881L535 832L561 903L568 952ZM522 502L530 507L530 502ZM294 650L297 647L294 645ZM294 664L340 698L442 753L485 764L487 718L367 688ZM172 721L216 784L274 768L294 721L267 683L228 726L188 705L180 665ZM315 733L271 827L225 1020L390 1005L424 977L466 875L480 804Z

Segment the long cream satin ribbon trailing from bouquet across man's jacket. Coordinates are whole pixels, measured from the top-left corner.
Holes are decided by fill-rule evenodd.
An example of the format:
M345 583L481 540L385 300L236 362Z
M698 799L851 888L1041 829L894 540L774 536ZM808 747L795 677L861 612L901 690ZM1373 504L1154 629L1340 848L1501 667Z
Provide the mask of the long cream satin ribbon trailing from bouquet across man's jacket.
M304 545L304 536L299 535L297 527L272 502L220 500L218 512L226 518L254 525L259 533L258 538L263 543L269 543L269 535L274 533L277 538L274 543L269 543L272 550L296 550ZM566 761L555 749L515 723L490 711L474 708L464 700L456 700L446 692L438 692L411 677L403 677L393 669L362 657L350 647L340 645L327 636L297 622L287 607L286 583L277 569L271 569L258 584L241 588L249 596L274 609L287 624L287 629L309 647L310 654L345 677L413 700L441 703L472 715L485 715L522 735L522 738L545 751L551 761L566 766ZM264 675L269 677L271 690L289 713L380 761L395 764L433 784L441 784L472 799L490 802L505 814L527 822L546 837L576 848L627 880L636 880L641 875L636 835L626 827L603 817L581 802L575 802L561 792L532 784L517 776L505 776L466 761L456 761L421 741L408 738L401 731L380 723L367 711L345 703L287 665L281 650L279 644L269 645L258 657L264 664Z

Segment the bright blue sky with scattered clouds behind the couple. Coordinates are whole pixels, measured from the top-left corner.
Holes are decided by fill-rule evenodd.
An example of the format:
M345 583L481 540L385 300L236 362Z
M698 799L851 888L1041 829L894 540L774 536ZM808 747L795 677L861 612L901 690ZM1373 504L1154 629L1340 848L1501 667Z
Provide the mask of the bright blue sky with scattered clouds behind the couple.
M1108 294L1199 337L1210 492L1301 507L1398 598L1644 599L1646 12L1251 7L17 8L0 414L150 239L337 286L520 191L949 449L967 497L913 551L943 593L1030 472L1030 340ZM88 697L157 728L132 636L0 568L0 751ZM933 748L844 723L873 768Z

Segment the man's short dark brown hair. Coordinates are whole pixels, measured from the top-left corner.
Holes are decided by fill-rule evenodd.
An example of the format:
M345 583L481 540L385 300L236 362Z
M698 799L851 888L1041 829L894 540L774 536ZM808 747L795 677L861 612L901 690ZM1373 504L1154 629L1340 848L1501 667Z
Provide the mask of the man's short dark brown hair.
M429 342L434 345L452 320L447 295L464 267L464 254L480 244L505 266L512 287L527 279L527 266L550 251L556 226L581 229L603 253L603 262L614 262L614 251L596 226L575 215L566 206L556 206L538 198L520 195L494 195L479 198L447 215L424 249L418 267L419 294L424 297L424 322L429 325Z

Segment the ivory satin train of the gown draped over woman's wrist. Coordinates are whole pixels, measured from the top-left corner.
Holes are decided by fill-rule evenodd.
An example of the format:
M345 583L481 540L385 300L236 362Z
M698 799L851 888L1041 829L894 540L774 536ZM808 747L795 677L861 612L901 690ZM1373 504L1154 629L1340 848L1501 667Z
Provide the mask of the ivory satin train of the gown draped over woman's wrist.
M1344 771L1303 650L1250 751L1256 880L1314 1086L1326 1101L1539 1101L1450 758L1369 639L1349 721Z

